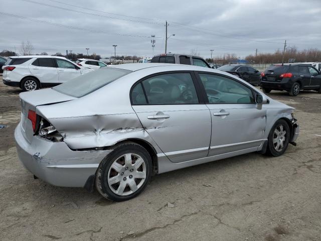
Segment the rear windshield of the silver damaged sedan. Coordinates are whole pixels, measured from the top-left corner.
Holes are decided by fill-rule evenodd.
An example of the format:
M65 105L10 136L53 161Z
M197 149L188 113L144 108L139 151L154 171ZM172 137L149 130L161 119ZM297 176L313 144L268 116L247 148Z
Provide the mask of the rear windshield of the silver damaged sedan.
M131 72L125 69L101 68L69 80L53 89L60 93L79 98Z

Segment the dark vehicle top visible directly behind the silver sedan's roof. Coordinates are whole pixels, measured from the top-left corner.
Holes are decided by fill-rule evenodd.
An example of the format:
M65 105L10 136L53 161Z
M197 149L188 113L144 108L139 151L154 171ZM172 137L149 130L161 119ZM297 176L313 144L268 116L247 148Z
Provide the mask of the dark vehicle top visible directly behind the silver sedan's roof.
M201 57L186 54L160 54L151 59L151 63L188 64L211 68Z

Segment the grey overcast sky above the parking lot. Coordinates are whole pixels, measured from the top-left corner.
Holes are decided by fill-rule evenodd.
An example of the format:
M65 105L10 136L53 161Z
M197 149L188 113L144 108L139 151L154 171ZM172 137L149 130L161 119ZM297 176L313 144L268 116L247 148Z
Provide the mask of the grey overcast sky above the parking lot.
M41 3L41 4L37 4ZM202 57L235 53L243 58L287 47L321 49L321 1L300 0L0 0L0 51L19 52L31 41L35 53L56 52L152 56L165 52L165 21L169 23L168 52ZM53 7L55 6L55 7ZM78 7L76 7L78 6ZM72 10L72 11L68 11ZM76 11L76 12L73 12ZM45 24L52 23L57 25ZM65 28L61 25L72 27ZM78 28L78 29L75 29ZM86 29L93 32L83 31ZM136 36L136 37L135 37ZM139 37L138 37L139 36Z

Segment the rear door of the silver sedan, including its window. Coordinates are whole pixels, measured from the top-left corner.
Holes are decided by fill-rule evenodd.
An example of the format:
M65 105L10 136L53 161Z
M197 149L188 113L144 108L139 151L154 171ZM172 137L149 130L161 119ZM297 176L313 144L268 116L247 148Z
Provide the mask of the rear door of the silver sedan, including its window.
M194 82L190 72L167 72L143 79L131 93L142 126L175 163L209 152L210 111L200 103Z

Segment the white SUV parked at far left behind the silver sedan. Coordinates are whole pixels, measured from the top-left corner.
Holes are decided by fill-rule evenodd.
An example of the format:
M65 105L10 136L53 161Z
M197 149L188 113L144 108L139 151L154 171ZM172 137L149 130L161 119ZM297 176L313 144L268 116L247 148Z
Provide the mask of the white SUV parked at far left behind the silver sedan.
M12 56L3 70L4 84L26 91L55 86L92 71L64 57L48 55Z

